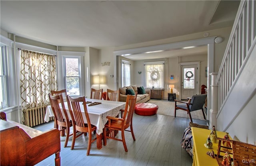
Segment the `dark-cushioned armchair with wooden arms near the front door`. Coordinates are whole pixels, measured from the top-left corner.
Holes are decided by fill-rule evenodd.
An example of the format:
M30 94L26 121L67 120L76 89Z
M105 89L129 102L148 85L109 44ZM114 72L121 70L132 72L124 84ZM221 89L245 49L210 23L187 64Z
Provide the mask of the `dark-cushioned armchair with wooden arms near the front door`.
M176 110L184 110L187 111L190 117L190 121L192 121L190 112L196 111L196 110L202 110L204 115L204 101L206 99L206 94L199 94L192 96L191 100L188 100L187 102L180 101L180 100L174 100L175 101L175 110L174 110L174 116L176 117ZM177 104L177 102L181 102L182 104ZM205 119L205 115L204 115Z

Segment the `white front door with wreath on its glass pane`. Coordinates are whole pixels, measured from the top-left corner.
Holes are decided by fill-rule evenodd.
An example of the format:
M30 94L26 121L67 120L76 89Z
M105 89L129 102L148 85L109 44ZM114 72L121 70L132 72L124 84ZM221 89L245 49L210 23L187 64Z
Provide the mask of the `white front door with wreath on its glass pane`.
M181 99L187 100L197 92L197 65L181 66Z

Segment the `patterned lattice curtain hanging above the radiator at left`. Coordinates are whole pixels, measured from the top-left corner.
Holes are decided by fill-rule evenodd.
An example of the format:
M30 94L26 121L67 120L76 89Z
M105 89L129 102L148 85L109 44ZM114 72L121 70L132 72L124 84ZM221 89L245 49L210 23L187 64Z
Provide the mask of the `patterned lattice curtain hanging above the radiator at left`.
M57 89L55 56L21 50L20 64L22 110L49 105L48 94Z

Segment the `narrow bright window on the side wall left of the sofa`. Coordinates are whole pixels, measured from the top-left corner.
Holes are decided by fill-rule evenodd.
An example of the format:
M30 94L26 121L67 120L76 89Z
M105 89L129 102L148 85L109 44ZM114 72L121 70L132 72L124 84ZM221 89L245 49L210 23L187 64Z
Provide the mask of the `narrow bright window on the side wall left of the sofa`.
M126 60L122 60L122 87L130 86L130 84L131 84L130 63Z

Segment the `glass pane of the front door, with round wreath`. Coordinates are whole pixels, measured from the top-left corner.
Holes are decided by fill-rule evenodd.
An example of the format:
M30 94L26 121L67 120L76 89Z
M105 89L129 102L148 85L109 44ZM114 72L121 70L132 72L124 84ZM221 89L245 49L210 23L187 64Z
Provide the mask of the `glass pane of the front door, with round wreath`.
M184 68L184 89L194 89L195 88L195 68Z

